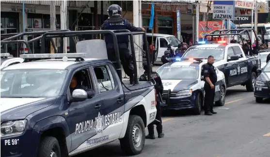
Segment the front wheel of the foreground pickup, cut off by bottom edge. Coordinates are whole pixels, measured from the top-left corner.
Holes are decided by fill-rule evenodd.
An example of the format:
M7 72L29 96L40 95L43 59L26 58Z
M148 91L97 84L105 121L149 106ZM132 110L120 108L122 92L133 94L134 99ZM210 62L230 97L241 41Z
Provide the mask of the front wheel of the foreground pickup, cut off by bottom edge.
M38 148L37 157L61 157L60 146L55 137L45 137Z

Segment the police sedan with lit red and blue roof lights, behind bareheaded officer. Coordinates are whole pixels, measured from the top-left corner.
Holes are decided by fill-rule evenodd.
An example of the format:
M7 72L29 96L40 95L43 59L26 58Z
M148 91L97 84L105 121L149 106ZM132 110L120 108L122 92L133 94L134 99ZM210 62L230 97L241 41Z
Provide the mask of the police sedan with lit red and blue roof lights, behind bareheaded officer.
M201 113L204 105L204 84L201 76L203 58L169 58L175 60L162 65L157 72L164 88L161 107L168 110L193 109ZM225 103L226 83L222 71L216 69L218 81L215 85L217 106Z

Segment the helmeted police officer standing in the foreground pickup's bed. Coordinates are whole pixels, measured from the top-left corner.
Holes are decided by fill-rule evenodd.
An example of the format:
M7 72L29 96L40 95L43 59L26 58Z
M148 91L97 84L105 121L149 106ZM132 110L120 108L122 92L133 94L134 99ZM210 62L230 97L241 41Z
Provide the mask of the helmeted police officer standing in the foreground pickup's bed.
M130 31L145 31L143 28L137 28L131 25L126 19L121 17L122 8L117 4L112 4L108 8L109 18L103 23L103 30L119 30L128 29ZM105 42L107 47L108 59L116 61L113 38L111 34L105 34ZM130 84L134 83L134 71L132 56L128 50L128 35L117 36L120 60L127 76L130 78ZM131 41L133 42L133 41Z

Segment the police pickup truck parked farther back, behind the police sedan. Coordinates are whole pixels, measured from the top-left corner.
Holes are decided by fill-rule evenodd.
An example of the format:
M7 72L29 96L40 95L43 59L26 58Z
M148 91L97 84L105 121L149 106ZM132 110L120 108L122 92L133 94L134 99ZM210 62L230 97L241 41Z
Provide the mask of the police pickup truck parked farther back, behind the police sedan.
M183 58L207 59L210 55L215 58L214 66L224 73L227 87L242 85L247 91L254 91L256 70L260 68L259 57L246 56L238 43L219 41L191 46Z

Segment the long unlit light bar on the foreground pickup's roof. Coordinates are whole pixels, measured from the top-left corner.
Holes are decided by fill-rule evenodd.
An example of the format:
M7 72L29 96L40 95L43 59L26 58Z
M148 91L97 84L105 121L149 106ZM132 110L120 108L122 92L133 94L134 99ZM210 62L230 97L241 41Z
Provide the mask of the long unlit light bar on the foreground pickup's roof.
M67 54L25 54L20 55L21 58L82 58L86 53L67 53Z

